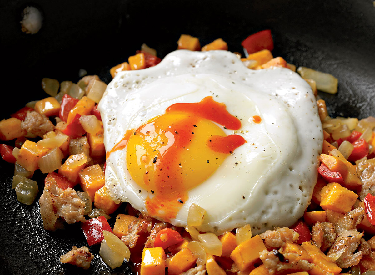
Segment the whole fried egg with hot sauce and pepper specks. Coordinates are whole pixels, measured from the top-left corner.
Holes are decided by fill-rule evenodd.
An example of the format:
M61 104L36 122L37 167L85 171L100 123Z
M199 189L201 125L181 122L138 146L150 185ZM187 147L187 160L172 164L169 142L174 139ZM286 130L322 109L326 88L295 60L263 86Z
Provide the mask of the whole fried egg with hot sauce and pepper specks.
M250 70L231 52L178 50L123 71L99 103L105 187L115 202L198 230L293 225L317 181L323 130L313 92L287 68Z

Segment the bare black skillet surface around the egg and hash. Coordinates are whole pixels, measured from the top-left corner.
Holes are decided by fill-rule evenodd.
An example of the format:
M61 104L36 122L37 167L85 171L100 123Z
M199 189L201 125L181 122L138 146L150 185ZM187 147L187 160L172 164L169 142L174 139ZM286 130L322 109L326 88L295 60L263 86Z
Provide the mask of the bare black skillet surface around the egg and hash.
M26 5L44 14L36 35L21 32ZM107 83L109 68L134 54L142 43L160 57L176 48L181 33L202 45L223 38L229 50L258 30L272 29L275 56L297 66L331 73L339 93L320 93L333 116L375 115L375 7L372 0L269 1L47 1L0 3L2 99L6 118L31 100L46 96L42 77L77 82L80 68ZM0 161L0 272L3 274L129 274L110 270L95 252L92 267L79 270L59 262L72 245L86 245L78 225L43 230L39 204L19 204L10 189L13 165ZM39 189L43 188L40 175ZM40 192L41 193L41 192ZM39 197L37 198L39 199Z

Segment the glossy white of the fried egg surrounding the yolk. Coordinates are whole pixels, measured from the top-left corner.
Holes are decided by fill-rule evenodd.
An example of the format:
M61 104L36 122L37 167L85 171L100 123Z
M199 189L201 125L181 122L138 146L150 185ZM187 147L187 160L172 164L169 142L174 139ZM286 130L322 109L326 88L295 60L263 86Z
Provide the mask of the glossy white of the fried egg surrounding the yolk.
M98 106L106 150L127 130L163 114L170 105L199 102L206 96L225 103L229 113L241 120L242 127L235 132L247 143L210 178L189 190L189 199L171 223L186 226L194 202L207 212L198 228L205 232L219 234L250 224L256 234L294 224L317 180L323 131L310 86L286 68L254 71L228 51L179 50L157 66L121 72ZM251 120L254 115L262 118L260 124ZM127 171L126 149L110 155L105 176L115 201L128 201L147 215L144 201L153 195Z

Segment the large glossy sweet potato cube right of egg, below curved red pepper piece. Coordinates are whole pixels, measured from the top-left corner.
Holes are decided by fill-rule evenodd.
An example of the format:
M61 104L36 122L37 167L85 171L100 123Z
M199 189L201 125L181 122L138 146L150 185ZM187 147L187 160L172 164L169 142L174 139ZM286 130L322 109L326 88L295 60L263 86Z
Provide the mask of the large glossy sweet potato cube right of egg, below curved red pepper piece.
M320 206L324 210L348 213L356 202L358 195L338 183L329 183L320 192Z

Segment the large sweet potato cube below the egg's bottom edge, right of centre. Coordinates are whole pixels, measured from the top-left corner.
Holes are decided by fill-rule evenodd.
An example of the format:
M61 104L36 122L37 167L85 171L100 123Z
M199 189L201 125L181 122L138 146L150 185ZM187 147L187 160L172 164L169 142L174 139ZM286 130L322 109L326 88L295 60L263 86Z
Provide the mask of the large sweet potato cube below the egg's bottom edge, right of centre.
M252 237L238 245L231 253L231 259L237 267L244 271L259 259L259 253L266 249L262 238L259 235Z

